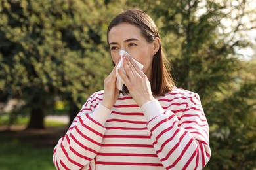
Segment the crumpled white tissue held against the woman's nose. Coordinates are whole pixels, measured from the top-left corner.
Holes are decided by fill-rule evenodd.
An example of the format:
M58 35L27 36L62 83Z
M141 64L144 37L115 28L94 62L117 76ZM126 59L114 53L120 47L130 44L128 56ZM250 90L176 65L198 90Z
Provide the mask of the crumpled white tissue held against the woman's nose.
M119 51L119 54L120 54L120 56L121 56L121 60L119 61L119 63L117 64L117 67L116 67L116 78L117 78L117 80L116 80L116 86L117 86L118 90L122 90L122 88L123 88L123 79L122 79L121 76L119 75L118 69L121 68L121 69L125 72L125 68L123 67L123 55L125 55L125 56L130 56L130 57L131 57L131 55L128 54L128 52L125 52L125 50L120 50L120 51ZM131 59L133 59L133 58L131 57ZM143 69L144 66L143 66L141 63L139 63L139 62L136 61L135 59L133 59L133 61L138 65L138 67L139 67L140 69ZM125 73L125 74L126 74L126 73Z

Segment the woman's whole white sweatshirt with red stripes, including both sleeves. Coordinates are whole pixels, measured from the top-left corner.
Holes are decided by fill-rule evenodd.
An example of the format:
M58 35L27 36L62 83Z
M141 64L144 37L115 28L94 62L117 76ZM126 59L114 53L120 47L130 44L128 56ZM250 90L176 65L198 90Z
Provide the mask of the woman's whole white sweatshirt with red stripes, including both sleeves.
M139 107L119 95L112 109L95 92L56 144L56 169L202 169L209 126L197 93L174 88Z

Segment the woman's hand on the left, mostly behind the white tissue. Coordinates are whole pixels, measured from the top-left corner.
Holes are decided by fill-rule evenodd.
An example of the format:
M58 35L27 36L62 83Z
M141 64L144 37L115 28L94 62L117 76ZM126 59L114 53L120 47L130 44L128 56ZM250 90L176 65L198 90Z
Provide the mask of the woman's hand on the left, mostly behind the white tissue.
M111 109L114 103L116 103L120 93L116 87L116 66L111 71L110 75L108 75L104 80L104 96L102 105L108 109Z

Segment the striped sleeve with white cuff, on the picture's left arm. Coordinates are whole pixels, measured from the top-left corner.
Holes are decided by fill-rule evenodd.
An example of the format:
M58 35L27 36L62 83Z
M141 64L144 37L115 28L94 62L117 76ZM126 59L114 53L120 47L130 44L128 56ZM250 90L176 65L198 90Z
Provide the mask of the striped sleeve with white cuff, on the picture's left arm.
M95 110L91 108L91 101L87 101L66 135L54 147L53 163L56 169L91 169L93 166L106 131L103 125L111 110L100 103L97 103Z

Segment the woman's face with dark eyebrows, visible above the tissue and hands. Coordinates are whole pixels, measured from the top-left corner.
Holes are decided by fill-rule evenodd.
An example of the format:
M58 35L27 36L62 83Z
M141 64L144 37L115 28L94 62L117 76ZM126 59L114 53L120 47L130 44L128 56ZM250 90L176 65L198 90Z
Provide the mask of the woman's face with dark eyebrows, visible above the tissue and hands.
M158 40L157 43L159 49ZM135 60L144 65L143 72L148 78L151 77L153 56L158 51L158 49L156 49L156 43L154 42L147 42L138 27L126 22L112 27L108 33L110 54L114 63L117 64L119 61L119 51L125 50Z

